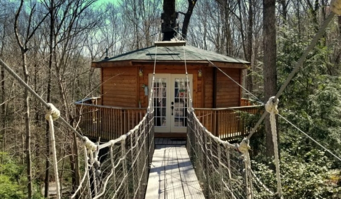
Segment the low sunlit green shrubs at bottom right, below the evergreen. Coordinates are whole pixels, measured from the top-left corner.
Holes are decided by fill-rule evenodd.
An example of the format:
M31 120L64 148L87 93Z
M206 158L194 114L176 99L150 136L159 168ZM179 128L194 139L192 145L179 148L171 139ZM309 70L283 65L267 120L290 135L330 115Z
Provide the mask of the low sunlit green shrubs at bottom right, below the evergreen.
M328 171L331 161L324 152L315 149L302 157L292 155L294 153L290 149L282 151L280 168L284 198L338 199L341 197L341 188L329 183L331 174ZM268 166L253 162L253 169L270 189L276 190L275 173L268 169Z

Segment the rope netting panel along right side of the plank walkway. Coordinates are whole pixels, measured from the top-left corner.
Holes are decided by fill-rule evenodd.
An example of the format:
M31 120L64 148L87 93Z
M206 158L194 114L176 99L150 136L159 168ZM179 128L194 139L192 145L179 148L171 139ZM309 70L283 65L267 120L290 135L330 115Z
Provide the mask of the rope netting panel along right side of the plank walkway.
M187 151L205 198L274 197L273 192L252 173L248 149L241 149L242 144L233 145L220 140L199 122L194 111L187 114Z

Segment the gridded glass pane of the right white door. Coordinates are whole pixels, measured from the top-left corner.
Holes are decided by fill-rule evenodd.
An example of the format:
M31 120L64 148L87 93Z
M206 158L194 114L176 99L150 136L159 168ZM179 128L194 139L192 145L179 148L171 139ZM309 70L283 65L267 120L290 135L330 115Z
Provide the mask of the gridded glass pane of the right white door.
M187 126L187 103L189 82L186 78L175 78L174 82L174 127Z

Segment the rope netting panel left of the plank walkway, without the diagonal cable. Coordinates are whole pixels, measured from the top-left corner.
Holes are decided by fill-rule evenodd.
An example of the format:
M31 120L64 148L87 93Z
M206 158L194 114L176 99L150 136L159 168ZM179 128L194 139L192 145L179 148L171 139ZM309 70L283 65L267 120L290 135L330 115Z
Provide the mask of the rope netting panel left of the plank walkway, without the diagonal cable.
M82 179L72 198L144 198L154 151L154 112L125 135L93 146L82 142ZM80 164L82 165L82 164Z

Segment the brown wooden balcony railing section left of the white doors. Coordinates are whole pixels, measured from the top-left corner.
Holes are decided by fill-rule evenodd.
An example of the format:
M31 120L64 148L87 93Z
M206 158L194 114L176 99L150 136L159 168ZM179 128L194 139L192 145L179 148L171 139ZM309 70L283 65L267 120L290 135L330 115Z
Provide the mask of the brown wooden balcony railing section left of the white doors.
M146 108L122 108L75 102L81 131L89 137L112 140L133 129L143 119Z

